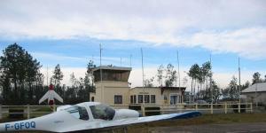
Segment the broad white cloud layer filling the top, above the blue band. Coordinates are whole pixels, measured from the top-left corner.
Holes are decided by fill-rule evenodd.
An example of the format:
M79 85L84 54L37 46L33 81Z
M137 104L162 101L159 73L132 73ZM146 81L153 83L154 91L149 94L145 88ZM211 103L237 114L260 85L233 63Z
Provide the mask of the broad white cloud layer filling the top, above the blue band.
M266 59L265 1L0 2L3 38L134 40Z

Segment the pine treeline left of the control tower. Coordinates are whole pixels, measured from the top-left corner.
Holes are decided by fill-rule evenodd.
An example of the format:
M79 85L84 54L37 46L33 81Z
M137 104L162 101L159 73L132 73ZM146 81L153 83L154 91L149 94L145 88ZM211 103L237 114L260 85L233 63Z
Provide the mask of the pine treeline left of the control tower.
M0 57L0 104L37 105L39 99L48 91L48 86L43 85L41 67L40 62L19 44L14 43L6 47ZM90 92L95 91L91 71L93 67L95 65L90 60L85 77L77 79L73 73L70 79L72 85L65 86L61 84L64 75L60 66L55 66L50 83L64 99L64 104L90 101Z

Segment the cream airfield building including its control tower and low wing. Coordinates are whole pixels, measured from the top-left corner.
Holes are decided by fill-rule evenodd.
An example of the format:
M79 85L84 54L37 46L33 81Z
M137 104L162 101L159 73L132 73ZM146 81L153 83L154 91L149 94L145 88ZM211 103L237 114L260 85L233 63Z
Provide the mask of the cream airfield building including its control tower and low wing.
M185 87L129 87L130 67L98 66L93 69L96 91L91 101L112 106L183 103Z

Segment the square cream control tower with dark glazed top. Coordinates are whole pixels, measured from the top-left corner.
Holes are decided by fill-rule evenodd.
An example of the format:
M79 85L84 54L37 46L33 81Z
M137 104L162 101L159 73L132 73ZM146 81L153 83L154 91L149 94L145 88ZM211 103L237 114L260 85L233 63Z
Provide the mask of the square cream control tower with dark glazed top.
M131 67L98 66L93 70L95 101L107 105L129 105Z

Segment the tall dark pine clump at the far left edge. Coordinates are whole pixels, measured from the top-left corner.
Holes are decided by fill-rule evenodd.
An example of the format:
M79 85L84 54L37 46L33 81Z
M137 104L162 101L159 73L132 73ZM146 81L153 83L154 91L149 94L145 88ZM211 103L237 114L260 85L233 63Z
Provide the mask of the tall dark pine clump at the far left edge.
M0 57L0 85L5 104L31 103L40 63L17 43L9 45Z

